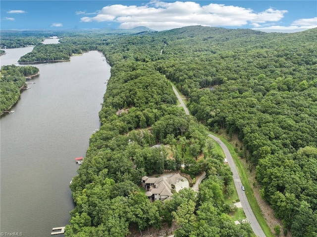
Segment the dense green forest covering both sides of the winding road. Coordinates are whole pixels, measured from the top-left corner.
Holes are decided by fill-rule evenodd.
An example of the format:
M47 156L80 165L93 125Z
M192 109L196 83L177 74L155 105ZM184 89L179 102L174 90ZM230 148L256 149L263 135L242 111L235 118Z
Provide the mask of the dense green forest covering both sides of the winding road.
M123 237L173 222L176 237L253 236L248 224L234 225L223 205L232 193L231 172L206 127L243 142L239 156L256 172L285 234L317 236L317 29L95 32L35 49L23 60L64 60L98 49L112 66L102 126L71 185L76 207L65 236ZM194 117L176 106L168 79L187 96ZM169 148L152 148L158 143ZM185 189L151 203L138 187L144 175L180 169L193 177L207 172L197 196Z

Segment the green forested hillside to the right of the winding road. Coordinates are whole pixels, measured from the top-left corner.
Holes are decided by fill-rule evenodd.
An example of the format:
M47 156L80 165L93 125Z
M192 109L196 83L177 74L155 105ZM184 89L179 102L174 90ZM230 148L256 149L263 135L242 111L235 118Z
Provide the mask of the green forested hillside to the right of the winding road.
M317 29L173 32L161 33L159 72L188 95L196 118L238 134L240 155L257 167L262 195L284 227L296 237L316 236Z

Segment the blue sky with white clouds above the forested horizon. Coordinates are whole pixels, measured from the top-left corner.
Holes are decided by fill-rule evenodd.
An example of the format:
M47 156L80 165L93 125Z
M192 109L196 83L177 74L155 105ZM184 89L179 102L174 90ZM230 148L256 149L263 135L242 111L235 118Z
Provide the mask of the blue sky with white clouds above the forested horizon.
M316 0L1 0L1 29L203 25L265 32L317 27Z

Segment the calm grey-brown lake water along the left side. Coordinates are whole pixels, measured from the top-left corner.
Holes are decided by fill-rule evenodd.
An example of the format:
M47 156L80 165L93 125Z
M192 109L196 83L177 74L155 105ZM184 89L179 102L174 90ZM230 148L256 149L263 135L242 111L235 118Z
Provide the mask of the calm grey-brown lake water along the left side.
M8 50L1 65L16 63L24 50ZM6 59L12 51L22 55ZM68 224L74 208L69 189L78 169L74 158L85 156L100 126L110 66L98 51L34 66L40 76L28 82L36 83L21 93L11 108L15 113L0 119L0 232L49 237L53 227Z

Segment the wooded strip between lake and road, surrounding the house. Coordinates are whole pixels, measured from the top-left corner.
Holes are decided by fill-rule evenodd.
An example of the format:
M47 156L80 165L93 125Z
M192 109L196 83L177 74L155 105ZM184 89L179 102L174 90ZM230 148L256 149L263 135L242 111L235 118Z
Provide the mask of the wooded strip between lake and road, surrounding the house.
M142 233L172 223L175 236L254 236L248 223L234 224L231 207L224 204L232 194L229 167L214 151L206 128L176 106L169 81L157 70L163 45L160 38L144 35L99 46L112 66L111 78L102 126L72 180L76 207L65 236L124 237L134 229ZM164 202L150 202L138 187L145 175L180 169L193 178L206 171L198 195L183 189Z

